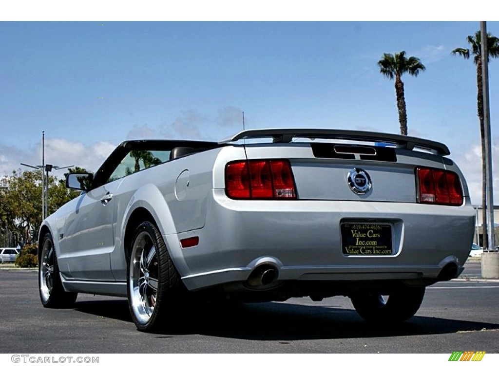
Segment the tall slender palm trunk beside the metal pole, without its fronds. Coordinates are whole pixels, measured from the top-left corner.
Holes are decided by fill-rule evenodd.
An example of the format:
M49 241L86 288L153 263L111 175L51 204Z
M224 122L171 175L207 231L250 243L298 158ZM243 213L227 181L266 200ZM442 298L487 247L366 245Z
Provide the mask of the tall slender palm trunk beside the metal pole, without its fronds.
M477 63L477 105L480 119L480 137L482 140L482 246L489 247L489 232L487 228L487 173L485 160L485 121L484 121L484 91L482 86L482 59Z

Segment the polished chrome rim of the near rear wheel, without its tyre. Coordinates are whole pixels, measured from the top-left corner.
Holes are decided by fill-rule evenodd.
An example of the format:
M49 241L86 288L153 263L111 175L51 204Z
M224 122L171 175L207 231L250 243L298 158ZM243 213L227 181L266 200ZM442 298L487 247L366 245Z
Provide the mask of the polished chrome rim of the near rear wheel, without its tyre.
M153 315L158 296L158 255L147 231L137 235L132 247L129 270L131 309L138 322L146 324Z

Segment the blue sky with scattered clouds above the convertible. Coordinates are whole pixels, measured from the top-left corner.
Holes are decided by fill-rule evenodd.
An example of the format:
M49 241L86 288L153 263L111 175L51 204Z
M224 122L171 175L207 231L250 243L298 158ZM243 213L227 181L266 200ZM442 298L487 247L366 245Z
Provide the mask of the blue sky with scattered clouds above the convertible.
M488 31L499 36L499 22ZM404 76L409 135L446 143L480 203L476 67L451 55L478 21L0 22L0 175L46 161L95 170L125 139L219 140L242 128L398 133L384 52ZM499 168L499 59L489 65ZM499 174L495 173L496 175ZM498 203L499 181L494 193Z

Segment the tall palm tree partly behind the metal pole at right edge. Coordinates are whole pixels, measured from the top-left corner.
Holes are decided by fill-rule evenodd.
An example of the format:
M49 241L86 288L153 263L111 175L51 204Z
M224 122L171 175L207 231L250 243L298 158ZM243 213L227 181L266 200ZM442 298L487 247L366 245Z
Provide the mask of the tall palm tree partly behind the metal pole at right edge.
M477 31L475 36L468 35L466 38L471 45L471 50L468 48L456 48L452 54L463 56L466 59L470 58L473 54L473 62L477 65L477 107L478 118L480 119L480 136L482 138L482 246L487 248L489 246L488 232L487 232L487 173L485 172L485 125L484 125L484 92L482 86L482 37L481 32ZM490 32L487 33L487 46L488 53L487 63L490 57L499 57L499 38L492 36ZM480 244L480 243L479 243Z

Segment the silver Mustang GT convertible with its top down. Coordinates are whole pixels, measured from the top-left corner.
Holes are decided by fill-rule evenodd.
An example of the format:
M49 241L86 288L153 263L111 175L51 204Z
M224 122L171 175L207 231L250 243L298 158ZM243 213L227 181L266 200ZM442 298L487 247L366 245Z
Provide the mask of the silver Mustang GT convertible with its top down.
M39 292L127 297L141 331L184 301L348 296L368 321L404 321L457 277L475 211L449 149L326 129L247 130L219 143L125 141L39 234ZM170 320L171 321L171 320Z

